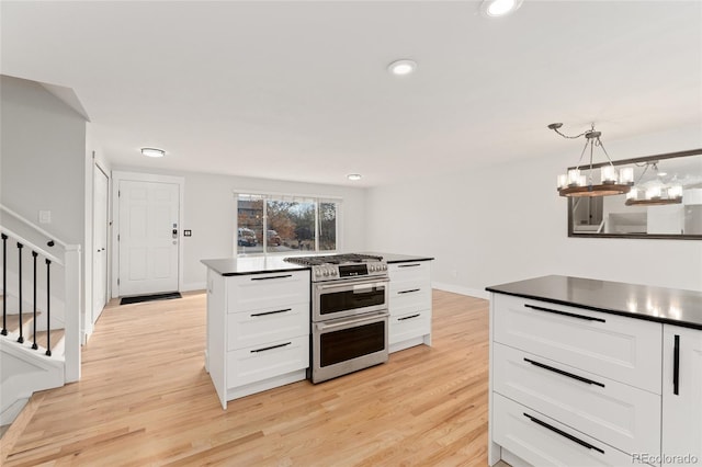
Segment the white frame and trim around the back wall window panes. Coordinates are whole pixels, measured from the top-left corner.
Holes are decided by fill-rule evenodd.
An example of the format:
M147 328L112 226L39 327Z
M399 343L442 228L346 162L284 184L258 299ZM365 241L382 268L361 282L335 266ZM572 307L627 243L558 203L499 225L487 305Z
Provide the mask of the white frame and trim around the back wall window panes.
M234 190L234 212L235 212L235 227L234 227L234 257L296 257L306 254L333 254L342 251L343 248L343 197L333 195L319 195L319 194L301 194L301 193L283 193L283 192L265 192L261 190ZM256 253L239 253L239 246L237 242L239 231L239 196L240 195L253 195L261 196L263 201L287 201L287 198L306 198L315 203L315 250L314 252L299 252L297 250L291 251L268 251L268 236L262 235L263 251ZM320 203L335 203L337 206L336 217L336 248L333 250L319 251L319 204ZM268 226L268 203L263 203L263 232L269 229Z

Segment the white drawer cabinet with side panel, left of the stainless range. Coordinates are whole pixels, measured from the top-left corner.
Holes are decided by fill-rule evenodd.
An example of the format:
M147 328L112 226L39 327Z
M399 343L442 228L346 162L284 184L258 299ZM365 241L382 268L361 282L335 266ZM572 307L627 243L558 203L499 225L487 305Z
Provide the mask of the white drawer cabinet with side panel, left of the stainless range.
M205 366L227 401L306 378L309 271L223 276L207 270Z

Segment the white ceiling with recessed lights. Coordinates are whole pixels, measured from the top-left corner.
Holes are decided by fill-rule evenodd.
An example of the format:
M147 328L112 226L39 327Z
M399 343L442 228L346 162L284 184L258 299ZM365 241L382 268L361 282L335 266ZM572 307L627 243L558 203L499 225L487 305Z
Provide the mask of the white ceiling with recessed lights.
M581 143L552 122L605 144L702 125L700 1L0 8L0 72L71 88L120 166L373 186L559 149L565 167ZM417 72L390 76L399 58Z

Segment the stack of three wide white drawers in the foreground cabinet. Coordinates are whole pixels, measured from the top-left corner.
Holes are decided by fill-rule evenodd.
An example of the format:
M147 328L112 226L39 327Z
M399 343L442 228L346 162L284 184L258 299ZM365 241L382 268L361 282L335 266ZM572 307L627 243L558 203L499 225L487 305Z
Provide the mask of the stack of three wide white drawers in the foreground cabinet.
M490 465L660 455L661 323L494 293L490 335Z

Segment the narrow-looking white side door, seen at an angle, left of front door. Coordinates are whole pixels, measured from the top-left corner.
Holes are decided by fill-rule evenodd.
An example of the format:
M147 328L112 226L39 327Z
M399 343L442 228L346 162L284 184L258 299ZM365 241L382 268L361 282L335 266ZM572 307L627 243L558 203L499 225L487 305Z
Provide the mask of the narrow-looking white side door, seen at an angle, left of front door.
M93 169L93 247L92 255L92 322L98 321L107 303L107 175Z

